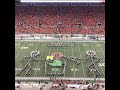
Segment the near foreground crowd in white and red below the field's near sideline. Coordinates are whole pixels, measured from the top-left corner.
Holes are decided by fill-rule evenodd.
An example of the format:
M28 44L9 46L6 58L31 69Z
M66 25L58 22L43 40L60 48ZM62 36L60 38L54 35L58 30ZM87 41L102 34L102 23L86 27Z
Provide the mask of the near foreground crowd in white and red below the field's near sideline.
M16 83L17 90L105 90L105 83L83 80L53 80L53 81L38 81L38 82L18 82ZM28 85L25 85L28 84ZM33 84L33 85L32 85ZM21 85L21 86L20 86ZM35 87L34 87L35 85ZM67 85L79 85L79 88L69 87ZM33 86L33 87L32 87ZM25 90L26 90L25 89Z

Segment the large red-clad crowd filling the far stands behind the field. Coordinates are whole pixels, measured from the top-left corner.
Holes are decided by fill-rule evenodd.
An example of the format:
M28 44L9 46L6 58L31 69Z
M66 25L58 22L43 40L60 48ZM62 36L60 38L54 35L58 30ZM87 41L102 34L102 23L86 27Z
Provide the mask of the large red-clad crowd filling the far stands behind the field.
M16 6L15 31L105 34L104 6Z

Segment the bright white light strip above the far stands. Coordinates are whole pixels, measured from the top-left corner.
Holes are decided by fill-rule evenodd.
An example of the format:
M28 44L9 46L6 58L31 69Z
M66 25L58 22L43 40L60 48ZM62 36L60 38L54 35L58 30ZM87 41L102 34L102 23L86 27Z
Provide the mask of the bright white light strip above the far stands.
M105 0L21 0L21 2L90 2L90 3L100 3L105 2Z

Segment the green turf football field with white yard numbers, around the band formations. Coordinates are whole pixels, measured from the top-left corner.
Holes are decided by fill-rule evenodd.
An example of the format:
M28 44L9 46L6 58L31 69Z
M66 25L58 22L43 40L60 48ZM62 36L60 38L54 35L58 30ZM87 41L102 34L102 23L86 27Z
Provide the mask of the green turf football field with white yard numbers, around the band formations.
M19 72L27 63L27 60L22 61L24 56L29 56L31 51L40 51L40 56L37 59L42 59L43 61L32 61L30 70L30 75L25 76L25 72L21 73L20 77L45 77L45 61L47 56L51 55L53 52L62 52L65 56L74 56L85 58L87 50L96 51L97 56L101 59L100 63L97 64L97 68L101 73L100 78L105 78L105 43L104 42L64 42L69 44L75 44L75 46L68 47L48 47L46 44L50 42L41 41L15 41L15 72ZM66 62L65 74L63 77L81 77L81 78L93 78L93 76L88 75L87 66L90 62L83 60L79 65L75 62L67 61L61 59L61 61ZM49 73L61 73L63 67L47 67ZM18 75L16 75L18 76Z

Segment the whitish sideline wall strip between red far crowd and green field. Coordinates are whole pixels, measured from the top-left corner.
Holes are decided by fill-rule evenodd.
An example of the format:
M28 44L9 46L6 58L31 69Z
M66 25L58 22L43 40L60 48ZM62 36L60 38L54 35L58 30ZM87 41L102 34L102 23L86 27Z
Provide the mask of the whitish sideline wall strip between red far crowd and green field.
M60 36L61 34L16 34L15 40L105 40L105 35L62 34L62 38Z

